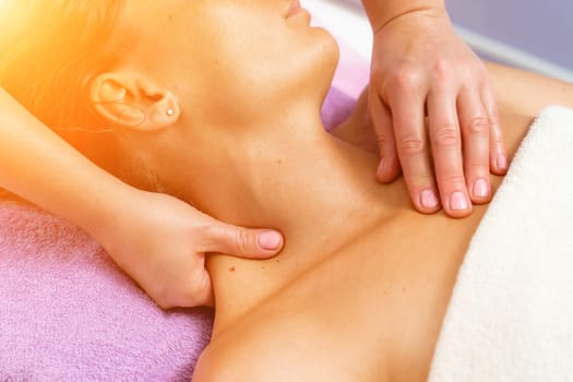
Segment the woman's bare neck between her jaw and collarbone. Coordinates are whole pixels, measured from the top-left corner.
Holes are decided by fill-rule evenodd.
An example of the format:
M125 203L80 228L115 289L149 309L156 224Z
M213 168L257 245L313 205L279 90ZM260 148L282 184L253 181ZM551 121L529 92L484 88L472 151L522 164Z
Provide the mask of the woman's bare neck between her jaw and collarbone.
M202 165L190 157L166 166L186 190L178 195L224 222L280 230L285 251L326 250L374 224L390 212L389 189L374 178L378 158L324 132L319 114L308 109L249 131L237 127L229 140L217 134L218 147Z

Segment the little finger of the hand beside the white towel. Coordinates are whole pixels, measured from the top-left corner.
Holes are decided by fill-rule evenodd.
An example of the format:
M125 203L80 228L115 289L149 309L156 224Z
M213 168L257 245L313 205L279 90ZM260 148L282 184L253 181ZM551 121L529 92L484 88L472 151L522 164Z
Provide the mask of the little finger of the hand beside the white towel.
M489 85L485 85L481 99L486 107L489 120L489 160L491 172L496 175L505 175L509 168L508 152L503 132L501 130L500 115L493 96L493 91Z

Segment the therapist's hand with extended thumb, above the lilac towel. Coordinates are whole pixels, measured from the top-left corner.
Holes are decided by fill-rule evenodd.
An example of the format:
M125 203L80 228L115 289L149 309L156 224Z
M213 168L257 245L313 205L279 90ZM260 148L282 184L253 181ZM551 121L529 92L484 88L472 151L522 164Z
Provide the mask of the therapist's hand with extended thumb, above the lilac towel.
M235 227L166 194L136 191L96 239L164 309L212 306L205 254L266 259L283 247L278 232Z

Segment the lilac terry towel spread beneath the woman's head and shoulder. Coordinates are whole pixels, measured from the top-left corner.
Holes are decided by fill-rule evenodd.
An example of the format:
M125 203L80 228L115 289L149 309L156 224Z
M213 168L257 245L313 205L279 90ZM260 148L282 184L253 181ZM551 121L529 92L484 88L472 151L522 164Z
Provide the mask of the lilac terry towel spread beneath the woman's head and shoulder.
M353 99L332 89L329 128ZM0 202L0 381L189 381L210 310L165 312L91 237Z

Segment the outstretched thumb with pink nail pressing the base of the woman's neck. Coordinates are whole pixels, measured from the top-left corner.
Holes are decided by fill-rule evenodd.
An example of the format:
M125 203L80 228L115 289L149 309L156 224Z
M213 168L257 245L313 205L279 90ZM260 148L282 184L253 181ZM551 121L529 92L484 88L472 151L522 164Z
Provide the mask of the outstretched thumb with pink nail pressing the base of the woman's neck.
M267 259L284 246L283 236L272 229L252 229L214 222L208 229L205 252L218 252L247 259Z

